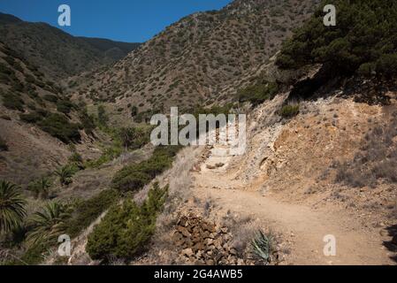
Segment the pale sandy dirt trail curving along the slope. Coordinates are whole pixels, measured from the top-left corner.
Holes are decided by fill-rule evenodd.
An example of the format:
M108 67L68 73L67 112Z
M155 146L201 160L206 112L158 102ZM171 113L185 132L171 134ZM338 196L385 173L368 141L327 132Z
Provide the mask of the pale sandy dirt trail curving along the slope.
M201 171L194 173L195 196L213 200L220 211L257 218L261 226L286 235L293 242L288 264L393 264L376 231L363 228L338 210L313 210L262 195L252 189L255 184L236 180L228 170L233 157L220 157L216 150L211 149ZM209 169L220 163L225 165ZM336 237L337 256L324 256L323 239L328 234Z

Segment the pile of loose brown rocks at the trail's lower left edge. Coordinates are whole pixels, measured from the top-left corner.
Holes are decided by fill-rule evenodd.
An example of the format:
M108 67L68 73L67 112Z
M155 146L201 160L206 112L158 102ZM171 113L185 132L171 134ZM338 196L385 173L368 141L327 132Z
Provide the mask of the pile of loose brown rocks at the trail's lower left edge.
M227 227L216 226L195 215L179 218L172 240L180 259L197 265L247 264L233 249Z

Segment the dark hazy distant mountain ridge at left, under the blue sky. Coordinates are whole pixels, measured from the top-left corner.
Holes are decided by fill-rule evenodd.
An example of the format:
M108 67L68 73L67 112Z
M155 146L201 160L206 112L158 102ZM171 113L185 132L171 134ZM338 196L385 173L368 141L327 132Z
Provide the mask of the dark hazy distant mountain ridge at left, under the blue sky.
M0 40L53 78L65 78L111 64L139 43L74 37L45 23L0 13Z

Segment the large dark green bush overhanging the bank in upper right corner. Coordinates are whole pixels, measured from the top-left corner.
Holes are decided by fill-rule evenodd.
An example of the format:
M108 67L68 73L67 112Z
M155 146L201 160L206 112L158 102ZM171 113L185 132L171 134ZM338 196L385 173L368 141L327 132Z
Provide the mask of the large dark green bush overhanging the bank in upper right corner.
M324 2L324 4L326 4ZM336 27L325 27L324 4L285 42L276 64L296 69L314 63L332 65L336 75L397 74L397 3L337 0Z

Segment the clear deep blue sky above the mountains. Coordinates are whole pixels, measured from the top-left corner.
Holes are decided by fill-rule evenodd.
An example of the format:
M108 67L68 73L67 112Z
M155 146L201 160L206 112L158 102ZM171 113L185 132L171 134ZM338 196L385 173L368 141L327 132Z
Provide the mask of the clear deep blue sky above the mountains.
M0 11L57 26L60 4L72 10L73 35L145 42L195 11L218 10L232 0L0 0ZM61 28L61 27L59 27Z

